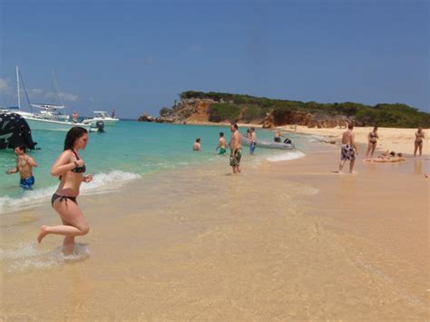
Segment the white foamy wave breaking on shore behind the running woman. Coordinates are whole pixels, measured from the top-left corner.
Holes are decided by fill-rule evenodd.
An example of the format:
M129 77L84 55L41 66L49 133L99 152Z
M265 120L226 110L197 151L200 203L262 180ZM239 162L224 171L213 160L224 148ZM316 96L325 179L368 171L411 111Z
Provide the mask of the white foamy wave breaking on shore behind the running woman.
M93 181L88 184L83 183L81 186L81 194L103 193L110 188L118 188L126 182L140 178L141 176L132 172L113 170L108 173L94 174ZM25 191L20 196L16 197L0 197L0 213L12 212L34 208L46 203L46 198L51 197L58 185L38 188L35 190ZM100 190L100 188L103 188ZM99 190L96 190L99 189Z

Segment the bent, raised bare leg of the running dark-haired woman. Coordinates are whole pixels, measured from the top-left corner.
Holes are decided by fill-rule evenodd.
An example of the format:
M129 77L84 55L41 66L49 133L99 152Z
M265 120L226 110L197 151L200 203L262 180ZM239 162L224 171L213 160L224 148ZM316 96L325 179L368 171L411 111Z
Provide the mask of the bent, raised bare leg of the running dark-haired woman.
M78 205L71 200L58 200L54 202L54 210L56 210L62 220L68 222L69 225L59 226L41 226L37 241L40 243L48 234L64 235L67 237L83 236L90 230L88 222L83 217L82 211ZM70 240L70 239L69 239Z

